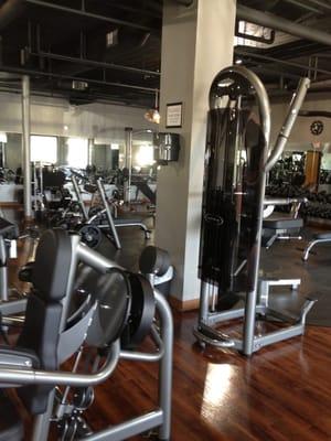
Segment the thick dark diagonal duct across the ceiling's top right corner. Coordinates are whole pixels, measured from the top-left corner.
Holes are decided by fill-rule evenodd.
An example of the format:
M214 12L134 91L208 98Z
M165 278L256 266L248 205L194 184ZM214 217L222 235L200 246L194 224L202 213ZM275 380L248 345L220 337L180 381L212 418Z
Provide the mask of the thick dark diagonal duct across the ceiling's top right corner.
M257 9L247 8L243 4L237 4L237 18L249 21L250 23L260 24L271 28L277 31L286 32L290 35L299 36L314 41L318 43L331 45L331 35L327 32L319 31L316 28L308 28L282 17L277 17L268 12L258 11Z

